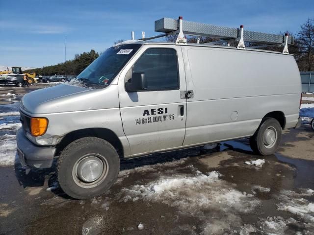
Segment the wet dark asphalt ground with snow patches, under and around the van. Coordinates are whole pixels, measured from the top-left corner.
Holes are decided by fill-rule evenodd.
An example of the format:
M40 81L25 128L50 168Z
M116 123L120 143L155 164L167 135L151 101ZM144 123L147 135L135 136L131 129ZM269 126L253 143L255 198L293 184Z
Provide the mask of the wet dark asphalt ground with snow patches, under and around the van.
M0 113L45 86L0 88ZM17 122L0 117L0 127ZM13 156L15 132L0 129L1 150ZM0 234L314 234L314 132L303 124L283 133L267 157L241 139L123 160L117 182L91 200L65 195L53 168L26 175L13 157L0 165ZM245 164L257 159L262 167Z

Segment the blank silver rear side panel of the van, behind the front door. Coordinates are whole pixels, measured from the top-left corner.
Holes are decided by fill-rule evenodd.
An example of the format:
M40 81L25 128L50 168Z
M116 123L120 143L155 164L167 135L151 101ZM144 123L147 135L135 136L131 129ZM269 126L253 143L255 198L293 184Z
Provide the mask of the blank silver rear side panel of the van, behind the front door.
M300 74L291 55L183 46L187 119L183 145L252 136L270 112L299 117Z

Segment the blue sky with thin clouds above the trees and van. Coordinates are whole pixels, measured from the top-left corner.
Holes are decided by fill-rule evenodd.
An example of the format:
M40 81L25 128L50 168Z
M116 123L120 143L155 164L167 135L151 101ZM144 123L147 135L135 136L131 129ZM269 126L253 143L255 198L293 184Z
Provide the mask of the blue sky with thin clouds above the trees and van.
M0 65L42 67L119 39L146 37L162 17L296 34L314 18L313 0L0 0Z

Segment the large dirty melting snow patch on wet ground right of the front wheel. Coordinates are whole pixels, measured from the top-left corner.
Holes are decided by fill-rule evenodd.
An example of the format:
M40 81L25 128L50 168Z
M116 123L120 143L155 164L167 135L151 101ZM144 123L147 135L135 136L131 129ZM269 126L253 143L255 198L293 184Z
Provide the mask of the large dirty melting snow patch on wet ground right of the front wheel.
M239 215L253 211L260 200L232 188L219 175L216 171L203 174L196 170L192 176L174 171L145 185L123 188L120 201L143 200L178 208L179 213L203 221L204 234L239 230Z

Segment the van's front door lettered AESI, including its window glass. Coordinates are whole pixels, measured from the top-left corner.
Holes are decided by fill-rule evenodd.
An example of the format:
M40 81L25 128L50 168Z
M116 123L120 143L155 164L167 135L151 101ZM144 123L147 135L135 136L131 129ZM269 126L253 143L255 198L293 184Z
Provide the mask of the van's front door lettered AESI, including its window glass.
M147 90L127 92L132 72L145 74ZM119 77L120 113L131 156L180 147L185 134L186 90L180 46L144 45Z

